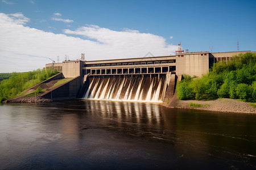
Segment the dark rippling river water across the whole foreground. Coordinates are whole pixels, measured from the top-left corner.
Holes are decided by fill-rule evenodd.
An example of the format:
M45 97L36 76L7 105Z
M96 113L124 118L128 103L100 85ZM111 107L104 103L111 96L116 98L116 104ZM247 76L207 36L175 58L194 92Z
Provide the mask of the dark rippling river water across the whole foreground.
M0 105L0 169L255 169L256 115L152 103Z

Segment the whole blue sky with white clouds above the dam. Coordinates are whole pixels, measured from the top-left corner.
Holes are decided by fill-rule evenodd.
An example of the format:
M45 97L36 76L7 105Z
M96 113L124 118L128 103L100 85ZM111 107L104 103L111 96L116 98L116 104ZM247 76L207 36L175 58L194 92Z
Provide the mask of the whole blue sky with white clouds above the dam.
M0 0L0 73L86 60L256 50L256 1Z

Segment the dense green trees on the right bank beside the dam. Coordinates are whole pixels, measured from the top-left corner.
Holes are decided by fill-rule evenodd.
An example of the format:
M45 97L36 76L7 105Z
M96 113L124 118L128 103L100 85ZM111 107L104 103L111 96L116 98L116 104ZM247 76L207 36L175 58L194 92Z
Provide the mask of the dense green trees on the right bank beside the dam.
M176 89L180 100L230 98L256 102L256 54L238 54L230 61L213 63L201 78L183 75Z

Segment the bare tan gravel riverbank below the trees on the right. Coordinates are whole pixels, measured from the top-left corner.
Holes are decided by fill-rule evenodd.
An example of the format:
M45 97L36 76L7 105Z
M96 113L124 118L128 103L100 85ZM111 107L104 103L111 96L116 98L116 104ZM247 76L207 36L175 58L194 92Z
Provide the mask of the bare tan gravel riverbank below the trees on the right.
M199 104L199 107L189 106L189 103ZM249 103L234 99L216 99L216 100L179 100L175 94L171 101L163 103L169 108L199 109L205 111L230 112L230 113L256 113L256 108Z

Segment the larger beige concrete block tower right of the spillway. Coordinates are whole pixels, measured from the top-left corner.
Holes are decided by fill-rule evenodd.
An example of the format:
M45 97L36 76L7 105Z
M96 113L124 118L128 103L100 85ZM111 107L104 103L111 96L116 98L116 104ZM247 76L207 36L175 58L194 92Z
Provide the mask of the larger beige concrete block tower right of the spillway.
M209 71L209 52L177 53L176 75L199 76Z

